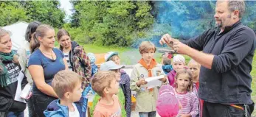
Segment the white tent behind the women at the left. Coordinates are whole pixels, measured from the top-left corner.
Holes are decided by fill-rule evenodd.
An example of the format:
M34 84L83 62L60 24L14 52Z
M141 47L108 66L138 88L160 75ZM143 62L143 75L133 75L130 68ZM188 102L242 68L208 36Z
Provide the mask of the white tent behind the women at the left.
M27 29L27 22L18 21L15 24L10 24L8 26L2 27L3 29L11 33L10 38L13 42L13 50L18 50L26 42L25 33Z

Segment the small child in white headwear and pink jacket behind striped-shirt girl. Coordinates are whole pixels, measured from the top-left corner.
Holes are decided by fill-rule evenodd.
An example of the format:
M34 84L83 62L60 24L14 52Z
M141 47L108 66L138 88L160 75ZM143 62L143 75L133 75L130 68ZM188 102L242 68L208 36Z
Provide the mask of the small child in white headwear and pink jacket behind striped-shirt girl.
M169 84L173 86L173 88L175 88L176 87L175 76L178 71L180 71L185 67L185 58L181 54L176 54L173 57L172 66L173 66L173 70L167 74L167 77L169 80Z

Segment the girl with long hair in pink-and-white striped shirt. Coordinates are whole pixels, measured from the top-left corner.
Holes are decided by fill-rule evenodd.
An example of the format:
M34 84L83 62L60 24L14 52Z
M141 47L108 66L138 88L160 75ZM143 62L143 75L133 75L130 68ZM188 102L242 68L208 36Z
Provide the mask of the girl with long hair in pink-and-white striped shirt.
M196 117L198 115L198 98L192 92L192 74L182 69L176 74L176 97L181 104L178 117Z

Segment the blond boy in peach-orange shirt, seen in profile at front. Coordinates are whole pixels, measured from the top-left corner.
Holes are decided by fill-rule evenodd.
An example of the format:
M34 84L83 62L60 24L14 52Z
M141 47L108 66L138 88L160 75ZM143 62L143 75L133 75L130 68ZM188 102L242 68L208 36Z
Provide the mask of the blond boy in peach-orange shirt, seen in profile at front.
M121 104L115 95L119 92L119 83L114 71L98 71L91 79L91 87L101 96L93 115L95 117L121 117Z

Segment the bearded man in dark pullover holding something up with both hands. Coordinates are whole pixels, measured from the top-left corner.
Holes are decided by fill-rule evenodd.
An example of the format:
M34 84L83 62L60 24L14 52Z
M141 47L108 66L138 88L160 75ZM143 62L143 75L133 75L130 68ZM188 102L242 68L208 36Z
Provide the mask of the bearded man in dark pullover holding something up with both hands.
M203 117L242 117L253 111L250 72L256 36L241 24L244 10L244 1L217 1L217 28L187 41L180 42L168 34L159 40L201 64L198 95L204 100Z

